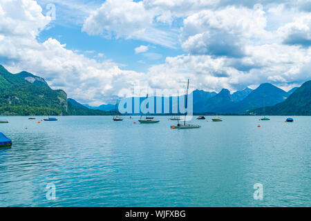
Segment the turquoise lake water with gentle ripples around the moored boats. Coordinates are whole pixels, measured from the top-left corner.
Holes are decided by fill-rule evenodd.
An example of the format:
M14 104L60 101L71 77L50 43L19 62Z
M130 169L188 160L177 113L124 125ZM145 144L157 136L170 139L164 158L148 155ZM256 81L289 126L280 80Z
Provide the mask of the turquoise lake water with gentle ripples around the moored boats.
M0 148L0 206L311 206L311 117L207 116L191 130L57 118L1 117L13 145Z

